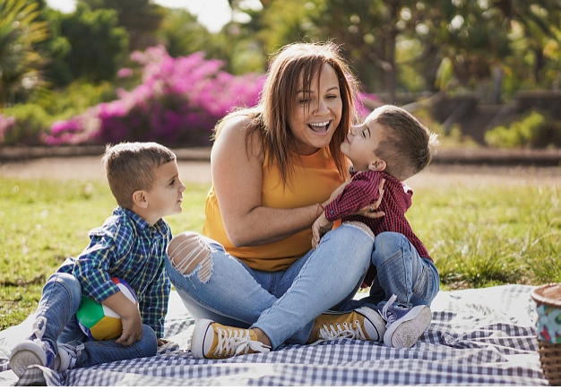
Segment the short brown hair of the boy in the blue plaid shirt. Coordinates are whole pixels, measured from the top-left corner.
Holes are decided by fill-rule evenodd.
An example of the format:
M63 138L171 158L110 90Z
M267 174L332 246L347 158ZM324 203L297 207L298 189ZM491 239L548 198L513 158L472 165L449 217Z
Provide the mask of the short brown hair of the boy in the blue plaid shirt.
M150 191L154 169L173 160L176 154L160 143L108 144L102 161L117 204L132 209L134 192Z

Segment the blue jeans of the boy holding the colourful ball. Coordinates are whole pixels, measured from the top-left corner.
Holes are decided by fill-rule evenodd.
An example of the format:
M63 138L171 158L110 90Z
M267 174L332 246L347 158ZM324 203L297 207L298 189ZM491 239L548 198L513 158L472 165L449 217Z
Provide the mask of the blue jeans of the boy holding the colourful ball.
M158 341L148 325L142 325L142 340L130 346L117 344L115 340L97 341L83 334L76 319L81 299L82 287L73 275L53 273L43 287L35 313L36 318L44 316L47 319L42 340L53 346L56 353L56 342L67 343L76 348L77 360L73 368L156 354Z

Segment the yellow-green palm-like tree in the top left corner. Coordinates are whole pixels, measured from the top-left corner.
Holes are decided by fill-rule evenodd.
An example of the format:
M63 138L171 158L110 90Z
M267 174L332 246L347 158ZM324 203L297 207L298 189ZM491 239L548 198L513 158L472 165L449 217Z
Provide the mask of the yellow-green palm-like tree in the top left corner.
M16 93L39 82L43 59L37 44L47 39L47 22L38 22L39 4L0 2L0 107L12 105Z

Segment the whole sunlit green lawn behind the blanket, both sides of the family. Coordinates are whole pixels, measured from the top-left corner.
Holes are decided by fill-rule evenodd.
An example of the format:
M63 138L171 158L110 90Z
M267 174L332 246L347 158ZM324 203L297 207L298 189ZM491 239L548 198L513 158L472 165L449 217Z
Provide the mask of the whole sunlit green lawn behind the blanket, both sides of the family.
M174 233L201 231L209 185L188 184ZM408 218L447 290L561 282L561 188L418 188ZM43 283L116 204L105 182L0 178L0 330L37 307Z

